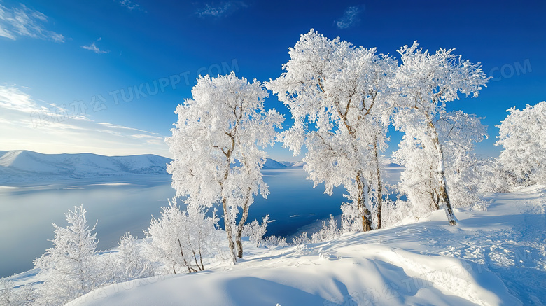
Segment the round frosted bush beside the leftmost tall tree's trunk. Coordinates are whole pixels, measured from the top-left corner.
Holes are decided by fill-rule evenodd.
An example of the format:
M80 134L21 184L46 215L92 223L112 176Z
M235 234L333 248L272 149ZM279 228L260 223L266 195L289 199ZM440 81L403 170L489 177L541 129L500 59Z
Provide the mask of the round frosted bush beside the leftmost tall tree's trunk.
M181 267L188 272L204 270L203 260L218 247L216 225L218 217L205 215L202 207L190 205L181 211L176 200L169 201L163 207L161 218L152 218L151 225L145 231L151 239L147 244L152 260L165 265L167 272L181 272Z

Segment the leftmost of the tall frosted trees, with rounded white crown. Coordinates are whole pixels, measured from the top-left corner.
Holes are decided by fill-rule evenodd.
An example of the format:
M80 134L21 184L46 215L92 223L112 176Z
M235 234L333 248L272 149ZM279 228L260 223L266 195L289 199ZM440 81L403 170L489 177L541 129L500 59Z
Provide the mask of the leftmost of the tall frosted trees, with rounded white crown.
M198 78L192 95L176 108L179 120L166 139L174 155L167 171L176 195L188 196L188 205L221 204L235 263L242 256L239 242L235 253L233 233L242 230L235 218L241 208L239 224L244 225L253 195L267 196L260 172L267 153L262 149L274 143L275 128L284 118L275 110L265 111L268 94L262 83L248 83L234 73Z

